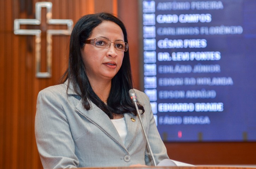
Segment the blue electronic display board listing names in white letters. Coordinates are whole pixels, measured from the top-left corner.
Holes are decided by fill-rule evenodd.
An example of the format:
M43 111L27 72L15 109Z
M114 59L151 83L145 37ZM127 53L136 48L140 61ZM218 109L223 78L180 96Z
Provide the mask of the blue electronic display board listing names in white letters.
M168 142L256 141L256 1L142 1L144 92Z

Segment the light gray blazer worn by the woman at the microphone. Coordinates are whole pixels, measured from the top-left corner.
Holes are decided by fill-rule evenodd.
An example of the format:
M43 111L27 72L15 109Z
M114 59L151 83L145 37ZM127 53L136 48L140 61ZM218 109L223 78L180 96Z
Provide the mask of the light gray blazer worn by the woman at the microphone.
M67 83L43 89L37 98L35 135L44 168L153 165L139 118L125 113L127 136L121 140L109 117L93 102L85 110ZM168 158L157 131L149 98L135 90L144 106L141 115L156 163ZM135 119L135 122L131 120Z

